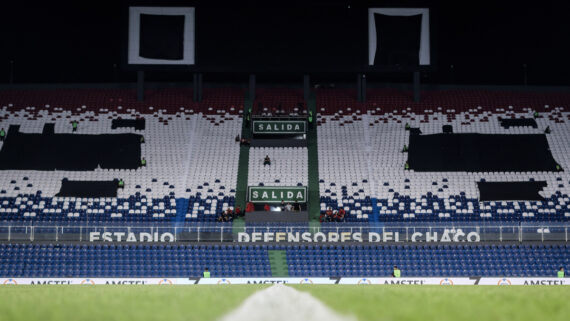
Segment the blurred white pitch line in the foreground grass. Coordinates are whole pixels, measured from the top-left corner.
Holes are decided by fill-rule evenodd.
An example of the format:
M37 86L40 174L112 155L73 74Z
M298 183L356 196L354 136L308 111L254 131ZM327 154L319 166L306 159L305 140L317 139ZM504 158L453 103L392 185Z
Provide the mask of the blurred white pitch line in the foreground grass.
M354 321L306 292L276 284L249 296L220 321Z

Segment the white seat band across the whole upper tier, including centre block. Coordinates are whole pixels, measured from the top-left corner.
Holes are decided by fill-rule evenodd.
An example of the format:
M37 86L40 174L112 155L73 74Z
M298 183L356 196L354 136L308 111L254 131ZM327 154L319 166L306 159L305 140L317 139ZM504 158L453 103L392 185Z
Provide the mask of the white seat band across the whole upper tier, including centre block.
M96 214L101 221L130 220L138 215L169 220L182 215L187 220L214 221L221 210L235 205L239 144L234 138L241 130L241 119L225 112L215 115L194 114L182 108L175 114L150 108L151 114L118 108L99 113L79 106L72 113L57 107L35 107L20 111L0 109L0 127L20 125L20 131L41 133L46 123L55 124L56 133L71 133L70 121L83 119L78 134L137 133L145 136L141 145L147 166L137 170L75 171L2 171L0 175L0 220L19 216L34 218L54 215L80 221ZM48 114L48 110L51 114ZM377 209L380 216L419 220L436 215L442 220L519 215L536 219L560 215L570 219L570 113L562 107L549 107L536 119L538 128L500 126L499 117L532 117L532 110L515 113L506 106L495 112L479 107L465 113L453 110L411 109L384 111L382 107L366 114L317 115L319 151L319 190L321 210L329 206L345 208L348 221L367 221ZM213 111L212 111L213 112ZM354 114L352 114L354 112ZM146 129L111 129L112 119L145 118ZM36 119L31 119L36 118ZM90 118L90 119L87 119ZM165 124L167 120L167 124ZM404 124L419 127L423 134L441 133L442 125L452 125L455 133L539 134L549 126L547 135L554 159L564 172L464 173L404 171L409 141ZM341 126L342 125L342 126ZM0 148L2 143L0 142ZM265 155L271 166L264 166ZM112 180L122 178L125 188L116 199L54 198L61 180ZM478 203L477 182L546 181L543 202ZM250 148L248 185L308 185L307 148ZM29 195L41 191L32 201ZM138 194L138 195L137 195ZM135 197L136 195L136 197ZM428 196L429 195L429 196ZM51 198L51 199L50 199ZM177 213L177 199L190 199L186 213ZM373 203L372 199L376 199ZM128 201L126 201L128 200ZM128 217L125 217L128 216ZM133 219L131 219L133 218ZM148 221L141 219L140 221Z

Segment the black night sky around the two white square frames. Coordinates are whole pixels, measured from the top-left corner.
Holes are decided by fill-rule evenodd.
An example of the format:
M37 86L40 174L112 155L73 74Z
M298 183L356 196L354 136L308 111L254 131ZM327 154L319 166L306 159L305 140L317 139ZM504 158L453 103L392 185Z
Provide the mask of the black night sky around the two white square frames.
M198 67L286 71L307 65L331 72L337 67L357 68L366 65L366 8L404 3L434 11L432 46L438 70L428 75L428 81L521 84L522 64L526 63L530 84L570 85L570 5L496 2L289 1L268 6L242 1L228 6L210 0L160 4L197 7ZM113 81L113 64L121 65L124 50L128 3L151 2L3 4L0 82L9 79L11 59L17 82ZM453 78L451 64L455 66ZM150 78L190 79L187 74L154 73ZM119 71L116 79L132 80L133 73Z

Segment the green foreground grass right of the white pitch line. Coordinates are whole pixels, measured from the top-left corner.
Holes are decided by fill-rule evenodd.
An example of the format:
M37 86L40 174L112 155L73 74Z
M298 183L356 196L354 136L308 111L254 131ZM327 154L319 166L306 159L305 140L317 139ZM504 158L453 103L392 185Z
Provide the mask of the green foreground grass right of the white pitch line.
M358 320L562 321L568 286L294 286Z

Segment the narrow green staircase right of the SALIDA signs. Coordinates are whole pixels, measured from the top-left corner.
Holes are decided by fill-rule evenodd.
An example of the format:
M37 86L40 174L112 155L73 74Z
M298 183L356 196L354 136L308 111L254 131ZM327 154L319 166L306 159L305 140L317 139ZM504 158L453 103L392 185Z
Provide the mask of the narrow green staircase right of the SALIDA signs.
M319 215L319 150L317 145L317 102L315 94L311 94L307 101L308 112L313 115L313 122L307 131L307 147L309 152L309 226L320 227Z

